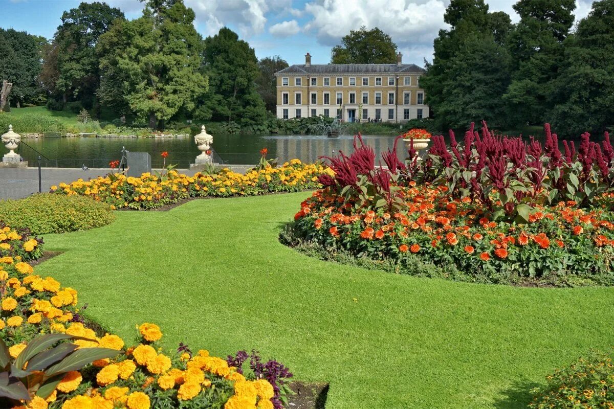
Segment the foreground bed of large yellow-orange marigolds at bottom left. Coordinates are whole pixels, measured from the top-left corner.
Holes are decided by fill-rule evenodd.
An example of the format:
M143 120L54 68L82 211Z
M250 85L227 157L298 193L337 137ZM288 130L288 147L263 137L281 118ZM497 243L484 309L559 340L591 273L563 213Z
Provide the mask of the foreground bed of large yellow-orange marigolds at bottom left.
M61 287L52 277L39 277L29 264L15 258L0 259L0 377L17 373L11 383L25 380L21 369L28 365L37 368L61 361L74 348L59 346L43 353L46 361L24 358L27 364L10 367L9 359L20 362L20 354L28 353L26 346L39 334L68 334L77 350L94 351L91 348L108 348L112 358L98 359L79 370L68 370L58 379L49 378L41 384L26 382L31 400L21 404L11 402L7 389L0 388L0 407L14 409L148 409L148 408L282 408L287 385L284 380L292 374L275 361L256 362L254 376L246 378L241 370L243 361L235 357L228 360L209 356L208 351L192 353L186 345L180 345L176 353L167 355L158 348L162 333L155 324L138 326L139 344L125 348L125 342L117 335L96 336L84 326L77 310L77 291ZM36 338L39 339L39 338ZM52 346L52 342L47 345ZM8 347L4 350L4 345ZM60 348L58 350L57 348ZM37 350L39 353L44 348ZM7 356L4 355L7 351ZM25 351L25 352L24 352ZM115 353L117 351L117 353ZM53 361L50 355L55 352ZM58 357L58 354L60 355ZM30 356L30 355L28 355ZM82 356L84 356L82 354ZM70 357L69 357L70 358ZM239 357L237 357L239 358ZM34 362L36 361L36 364ZM74 364L74 361L72 361ZM91 362L91 361L87 361ZM87 362L82 362L81 366ZM23 368L21 367L23 365ZM66 367L66 366L64 366ZM52 369L47 369L49 375ZM45 376L44 370L34 372ZM29 378L33 379L33 378ZM59 383L58 383L59 381ZM15 388L12 388L15 391Z

